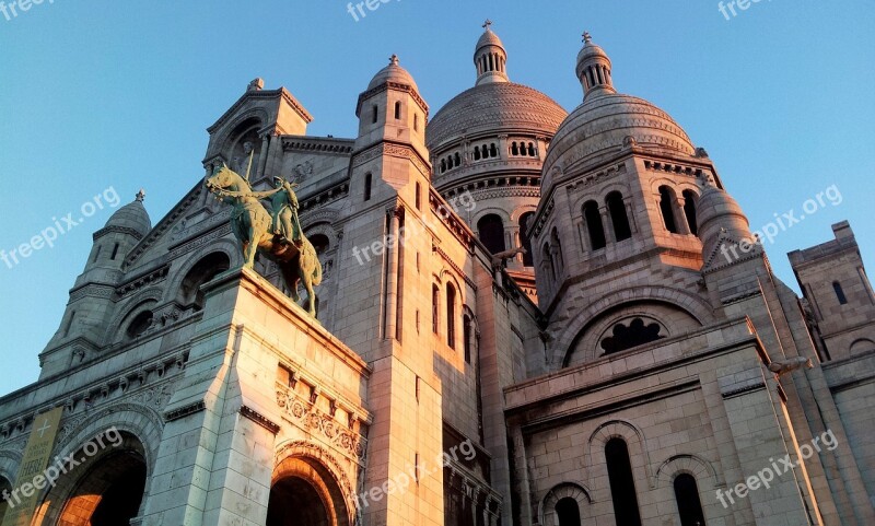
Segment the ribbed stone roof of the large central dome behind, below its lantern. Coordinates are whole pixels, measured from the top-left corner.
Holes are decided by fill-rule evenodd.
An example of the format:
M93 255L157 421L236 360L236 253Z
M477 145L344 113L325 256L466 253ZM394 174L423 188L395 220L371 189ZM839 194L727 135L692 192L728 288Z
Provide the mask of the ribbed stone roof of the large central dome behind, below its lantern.
M512 82L481 84L456 95L425 128L434 152L462 135L533 131L551 136L568 113L544 93Z

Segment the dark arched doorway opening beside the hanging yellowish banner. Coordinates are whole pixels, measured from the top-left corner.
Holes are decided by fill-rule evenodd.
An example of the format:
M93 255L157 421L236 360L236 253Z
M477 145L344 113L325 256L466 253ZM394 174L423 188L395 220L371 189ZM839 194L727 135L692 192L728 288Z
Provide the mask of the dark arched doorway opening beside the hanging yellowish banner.
M37 524L118 526L139 516L147 482L144 451L132 435L119 433L115 439L104 437L103 448L91 441L74 454L85 461L58 479Z

